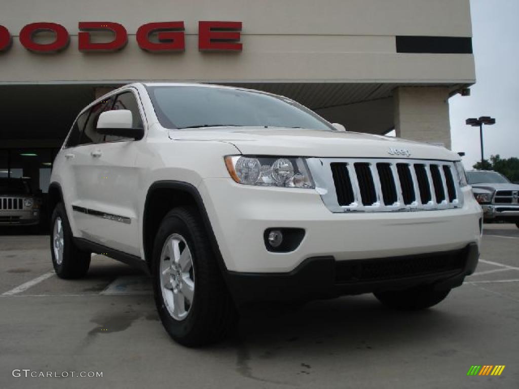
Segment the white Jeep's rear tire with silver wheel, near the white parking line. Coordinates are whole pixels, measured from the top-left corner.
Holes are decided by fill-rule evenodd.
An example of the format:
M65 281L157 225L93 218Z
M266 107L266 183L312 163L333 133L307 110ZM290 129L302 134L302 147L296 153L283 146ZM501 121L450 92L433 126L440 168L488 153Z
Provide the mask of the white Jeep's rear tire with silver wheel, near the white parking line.
M84 277L90 267L90 253L81 251L74 244L63 203L58 203L54 208L50 228L52 266L58 277L62 279Z

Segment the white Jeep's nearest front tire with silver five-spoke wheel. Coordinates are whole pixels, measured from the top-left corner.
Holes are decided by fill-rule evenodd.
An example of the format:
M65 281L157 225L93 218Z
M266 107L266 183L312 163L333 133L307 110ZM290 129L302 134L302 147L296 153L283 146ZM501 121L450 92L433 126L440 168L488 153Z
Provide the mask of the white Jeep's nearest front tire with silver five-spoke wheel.
M170 211L158 229L153 250L155 303L168 334L185 346L222 340L237 312L198 212Z

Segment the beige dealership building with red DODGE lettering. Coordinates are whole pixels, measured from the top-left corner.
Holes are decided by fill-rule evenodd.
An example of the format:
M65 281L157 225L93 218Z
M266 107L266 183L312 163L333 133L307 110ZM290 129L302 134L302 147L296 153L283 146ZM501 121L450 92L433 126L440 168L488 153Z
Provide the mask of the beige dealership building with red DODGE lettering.
M79 110L133 81L288 96L348 131L450 147L469 0L17 0L0 13L0 177L47 191ZM319 150L316 150L319 154Z

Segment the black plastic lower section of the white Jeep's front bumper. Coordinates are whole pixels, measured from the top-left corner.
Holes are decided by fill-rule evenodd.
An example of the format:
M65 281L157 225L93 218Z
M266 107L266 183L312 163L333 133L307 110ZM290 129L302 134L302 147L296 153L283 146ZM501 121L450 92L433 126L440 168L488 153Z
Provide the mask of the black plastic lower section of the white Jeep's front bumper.
M460 286L477 266L477 244L449 252L368 260L308 258L290 273L227 272L238 305L295 302L342 295L401 290L432 284L436 290Z

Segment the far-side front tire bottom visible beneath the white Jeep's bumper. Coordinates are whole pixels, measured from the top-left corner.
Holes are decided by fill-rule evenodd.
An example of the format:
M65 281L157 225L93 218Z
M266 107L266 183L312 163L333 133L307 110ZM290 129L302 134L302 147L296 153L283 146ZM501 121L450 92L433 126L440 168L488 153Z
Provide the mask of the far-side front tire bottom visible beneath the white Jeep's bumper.
M450 289L434 290L432 285L422 285L404 290L387 290L375 292L374 295L382 304L402 311L417 311L430 308L443 301Z

